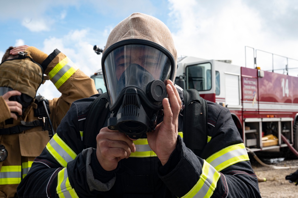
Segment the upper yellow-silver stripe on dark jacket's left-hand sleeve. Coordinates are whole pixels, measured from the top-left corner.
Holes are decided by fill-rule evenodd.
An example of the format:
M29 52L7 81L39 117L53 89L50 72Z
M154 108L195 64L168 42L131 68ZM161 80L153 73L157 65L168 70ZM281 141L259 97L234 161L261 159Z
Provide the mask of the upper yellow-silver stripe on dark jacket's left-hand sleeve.
M74 160L77 156L57 133L50 139L46 148L63 167L66 167L67 163Z

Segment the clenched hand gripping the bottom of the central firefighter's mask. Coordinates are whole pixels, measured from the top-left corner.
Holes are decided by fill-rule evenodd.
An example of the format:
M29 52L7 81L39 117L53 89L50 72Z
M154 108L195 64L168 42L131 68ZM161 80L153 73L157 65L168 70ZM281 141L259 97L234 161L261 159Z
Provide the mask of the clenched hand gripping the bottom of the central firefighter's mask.
M104 127L96 136L96 156L103 169L112 171L121 159L135 152L135 144L124 133Z

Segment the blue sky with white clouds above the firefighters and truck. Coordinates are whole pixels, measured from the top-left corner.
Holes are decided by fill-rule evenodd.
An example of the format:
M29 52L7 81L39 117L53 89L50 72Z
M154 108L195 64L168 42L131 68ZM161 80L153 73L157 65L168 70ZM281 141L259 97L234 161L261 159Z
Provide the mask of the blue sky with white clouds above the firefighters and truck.
M296 0L1 1L0 57L9 46L35 46L47 54L59 49L91 76L101 68L93 46L103 49L111 30L135 12L169 27L178 57L254 68L255 53L262 70L285 68L285 57L289 68L298 68ZM50 81L37 93L47 99L61 95Z

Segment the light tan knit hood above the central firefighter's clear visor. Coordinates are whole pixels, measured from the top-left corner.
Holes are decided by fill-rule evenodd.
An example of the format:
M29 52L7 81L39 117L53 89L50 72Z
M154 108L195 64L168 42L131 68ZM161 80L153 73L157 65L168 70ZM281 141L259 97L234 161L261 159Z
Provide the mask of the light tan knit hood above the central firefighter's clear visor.
M133 13L115 26L108 37L103 53L114 43L127 39L144 39L163 46L173 55L177 65L177 51L172 34L159 19L142 13ZM174 68L175 79L177 68Z

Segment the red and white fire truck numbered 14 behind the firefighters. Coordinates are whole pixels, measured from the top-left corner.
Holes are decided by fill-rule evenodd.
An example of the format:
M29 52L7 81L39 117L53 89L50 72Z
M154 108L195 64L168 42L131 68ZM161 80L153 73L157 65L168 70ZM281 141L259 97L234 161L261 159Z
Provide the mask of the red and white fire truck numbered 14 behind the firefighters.
M92 78L99 93L105 92L101 69ZM197 89L204 99L227 107L249 150L288 145L298 150L298 77L226 60L180 57L175 84Z

